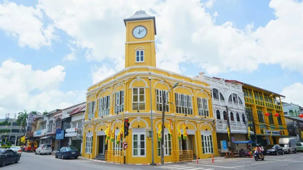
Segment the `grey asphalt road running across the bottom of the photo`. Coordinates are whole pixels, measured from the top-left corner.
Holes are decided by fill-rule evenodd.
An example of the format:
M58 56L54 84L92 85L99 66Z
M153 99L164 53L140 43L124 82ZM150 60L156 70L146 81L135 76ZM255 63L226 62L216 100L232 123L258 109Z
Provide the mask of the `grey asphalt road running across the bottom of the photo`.
M233 158L215 160L196 161L190 163L165 164L165 165L123 165L102 163L83 159L55 159L54 155L35 155L34 153L22 152L20 162L17 164L6 165L1 170L53 170L53 169L72 169L72 170L302 170L303 153L266 156L264 161L255 161L251 158Z

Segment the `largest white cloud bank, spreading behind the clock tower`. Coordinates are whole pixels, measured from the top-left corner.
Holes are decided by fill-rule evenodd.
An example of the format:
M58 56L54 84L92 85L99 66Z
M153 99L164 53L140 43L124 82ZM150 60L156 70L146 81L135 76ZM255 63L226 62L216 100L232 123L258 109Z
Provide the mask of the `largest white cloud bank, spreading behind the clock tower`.
M153 15L148 12L151 8L157 13L160 68L180 73L179 63L190 61L208 74L217 74L252 71L265 63L281 64L303 73L302 2L272 0L269 7L275 10L277 18L256 31L252 30L253 24L243 30L231 22L215 25L215 17L205 11L205 4L199 0L39 2L38 7L54 21L56 28L74 38L79 47L88 48L86 56L90 60L121 60L125 54L122 19L140 8ZM206 6L211 7L212 2Z

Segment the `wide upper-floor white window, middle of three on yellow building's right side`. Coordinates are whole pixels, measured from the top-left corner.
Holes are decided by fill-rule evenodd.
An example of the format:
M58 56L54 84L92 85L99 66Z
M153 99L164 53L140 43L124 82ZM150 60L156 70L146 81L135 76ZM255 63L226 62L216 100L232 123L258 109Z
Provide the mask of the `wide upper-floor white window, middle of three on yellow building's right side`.
M176 98L176 113L193 114L192 97L191 95L175 93Z

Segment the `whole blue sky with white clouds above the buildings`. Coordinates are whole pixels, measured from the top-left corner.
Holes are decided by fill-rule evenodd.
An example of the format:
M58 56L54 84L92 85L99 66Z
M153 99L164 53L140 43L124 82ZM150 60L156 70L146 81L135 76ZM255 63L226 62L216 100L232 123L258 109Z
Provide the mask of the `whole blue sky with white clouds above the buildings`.
M249 83L303 106L301 0L0 0L0 117L85 102L124 68L124 18L156 17L157 67Z

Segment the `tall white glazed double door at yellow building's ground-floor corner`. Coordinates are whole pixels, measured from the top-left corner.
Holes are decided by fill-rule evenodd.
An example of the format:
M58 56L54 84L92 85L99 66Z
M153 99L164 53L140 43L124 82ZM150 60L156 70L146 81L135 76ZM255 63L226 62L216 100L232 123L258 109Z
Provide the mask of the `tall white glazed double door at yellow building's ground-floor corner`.
M135 132L137 131L137 132ZM134 155L134 150L135 150L135 146L134 146L134 135L138 136L138 141L137 141L137 153L138 155ZM140 155L141 154L141 135L144 135L144 155ZM145 132L145 128L132 128L132 157L146 157L146 132Z

